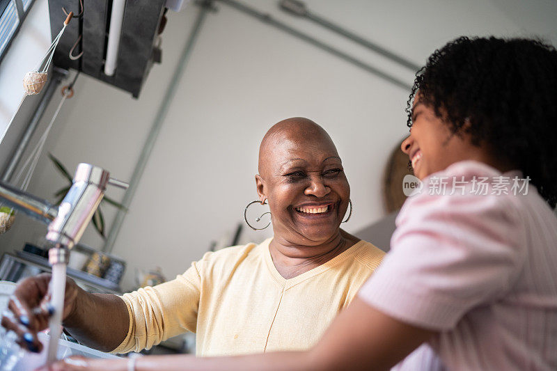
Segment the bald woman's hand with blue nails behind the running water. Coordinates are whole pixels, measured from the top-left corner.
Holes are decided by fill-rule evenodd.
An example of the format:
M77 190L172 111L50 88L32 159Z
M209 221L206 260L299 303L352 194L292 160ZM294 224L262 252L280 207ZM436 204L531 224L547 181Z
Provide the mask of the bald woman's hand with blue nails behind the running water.
M48 327L49 317L54 313L49 303L49 282L50 274L40 274L18 283L10 297L8 310L2 314L2 326L14 331L19 345L31 352L42 350L37 333ZM76 283L66 278L62 320L72 313L78 292Z

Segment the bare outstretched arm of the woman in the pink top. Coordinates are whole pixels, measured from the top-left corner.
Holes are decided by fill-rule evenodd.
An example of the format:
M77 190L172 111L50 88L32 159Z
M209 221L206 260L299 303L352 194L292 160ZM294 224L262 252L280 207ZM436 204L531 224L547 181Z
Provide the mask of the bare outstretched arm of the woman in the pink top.
M147 356L136 360L137 371L328 371L388 370L434 332L393 319L357 298L334 320L322 340L306 352L194 358ZM125 371L125 360L60 361L54 370Z

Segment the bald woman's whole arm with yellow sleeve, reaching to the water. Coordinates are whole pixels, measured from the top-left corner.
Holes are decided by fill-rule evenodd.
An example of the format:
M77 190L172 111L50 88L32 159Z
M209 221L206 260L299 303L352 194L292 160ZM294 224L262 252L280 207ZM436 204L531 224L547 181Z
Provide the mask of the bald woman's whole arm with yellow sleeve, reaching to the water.
M143 287L123 297L90 294L68 278L62 324L84 345L119 353L139 352L178 333L195 331L201 295L198 267L205 260L193 262L173 281ZM48 327L50 317L49 281L49 274L41 274L19 283L10 300L10 311L2 318L2 325L19 336L19 344L35 352L42 349L36 333ZM26 336L32 341L27 342Z

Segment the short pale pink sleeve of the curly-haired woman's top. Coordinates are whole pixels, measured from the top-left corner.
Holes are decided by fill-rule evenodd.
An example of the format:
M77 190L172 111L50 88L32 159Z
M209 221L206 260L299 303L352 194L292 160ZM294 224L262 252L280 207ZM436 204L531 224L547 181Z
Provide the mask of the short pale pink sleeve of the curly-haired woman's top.
M407 200L397 226L359 297L402 322L452 329L505 294L524 265L524 227L504 196L421 194Z

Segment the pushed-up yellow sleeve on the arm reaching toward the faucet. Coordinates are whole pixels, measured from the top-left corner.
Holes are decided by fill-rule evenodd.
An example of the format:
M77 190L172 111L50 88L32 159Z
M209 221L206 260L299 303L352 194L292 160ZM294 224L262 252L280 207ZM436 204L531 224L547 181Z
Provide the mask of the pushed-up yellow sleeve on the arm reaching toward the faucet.
M111 353L140 352L185 331L196 332L200 268L207 254L173 281L123 294L130 326L126 338Z

